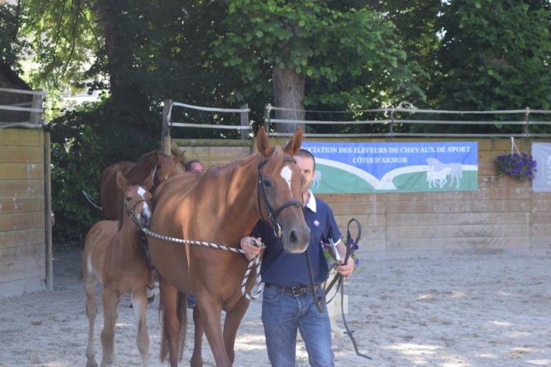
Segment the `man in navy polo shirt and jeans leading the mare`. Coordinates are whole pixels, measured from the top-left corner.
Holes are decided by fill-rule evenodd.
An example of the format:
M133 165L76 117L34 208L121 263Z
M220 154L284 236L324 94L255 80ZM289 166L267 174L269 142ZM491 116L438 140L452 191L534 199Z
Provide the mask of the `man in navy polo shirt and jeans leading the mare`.
M325 293L320 286L329 276L329 266L324 257L320 241L337 244L342 259L346 246L340 242L340 231L333 217L333 211L323 200L315 198L310 185L315 176L315 160L312 154L301 149L293 158L306 178L302 200L304 219L310 228L308 252L318 299L323 300L319 313L313 303L309 289L309 274L306 254L291 254L283 250L283 244L275 237L271 224L260 220L251 233L252 237L241 240L241 248L251 258L253 253L261 253L251 244L253 238L263 240L267 249L262 260L262 281L265 282L262 296L262 324L268 357L274 367L295 366L297 329L302 335L311 366L334 366L331 350L331 322L326 312ZM341 260L344 263L344 260ZM337 266L337 271L348 278L354 270L354 261Z

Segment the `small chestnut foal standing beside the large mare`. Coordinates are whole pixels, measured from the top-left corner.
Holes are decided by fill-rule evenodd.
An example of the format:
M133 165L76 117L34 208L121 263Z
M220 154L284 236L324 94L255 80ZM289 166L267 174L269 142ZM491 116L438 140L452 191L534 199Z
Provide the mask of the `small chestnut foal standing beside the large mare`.
M141 228L147 227L151 222L153 197L148 190L153 185L153 177L149 176L142 185L141 182L128 182L121 171L117 171L116 180L118 188L124 194L124 200L121 200L125 210L122 222L103 220L94 224L84 242L82 269L89 327L87 367L97 366L94 352L94 323L98 314L98 282L101 282L103 303L101 366L107 366L114 361L118 304L123 294L128 292L132 292L132 304L138 326L136 344L143 365L149 364L149 335L145 322L149 266L142 247Z

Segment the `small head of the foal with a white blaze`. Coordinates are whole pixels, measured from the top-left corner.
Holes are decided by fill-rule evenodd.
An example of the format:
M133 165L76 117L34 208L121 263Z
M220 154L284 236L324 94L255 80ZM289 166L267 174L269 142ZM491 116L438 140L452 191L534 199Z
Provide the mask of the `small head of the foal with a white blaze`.
M149 189L153 186L153 176L147 176L143 183L128 181L118 170L116 185L125 193L122 205L127 216L138 227L149 226L153 210L153 196L149 193Z

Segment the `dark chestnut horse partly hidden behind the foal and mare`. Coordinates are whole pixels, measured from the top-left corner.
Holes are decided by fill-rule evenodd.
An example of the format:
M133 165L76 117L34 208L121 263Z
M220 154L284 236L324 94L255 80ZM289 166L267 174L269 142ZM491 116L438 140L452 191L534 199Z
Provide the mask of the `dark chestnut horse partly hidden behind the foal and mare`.
M107 220L121 220L123 213L119 213L121 202L123 201L123 191L117 187L116 173L118 170L122 172L127 180L143 181L155 169L155 177L153 186L149 189L150 193L170 176L177 174L178 169L176 164L182 159L185 151L182 151L176 158L172 158L158 151L151 151L138 162L125 160L115 163L107 167L99 178L101 209ZM147 277L147 299L153 302L155 288L155 267L152 262L149 262L149 277Z

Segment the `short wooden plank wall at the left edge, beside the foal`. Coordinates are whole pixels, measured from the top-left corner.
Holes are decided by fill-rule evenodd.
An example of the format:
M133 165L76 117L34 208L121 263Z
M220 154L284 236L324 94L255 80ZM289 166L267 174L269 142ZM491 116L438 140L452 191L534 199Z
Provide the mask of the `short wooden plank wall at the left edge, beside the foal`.
M0 297L53 289L49 147L41 130L0 129Z

